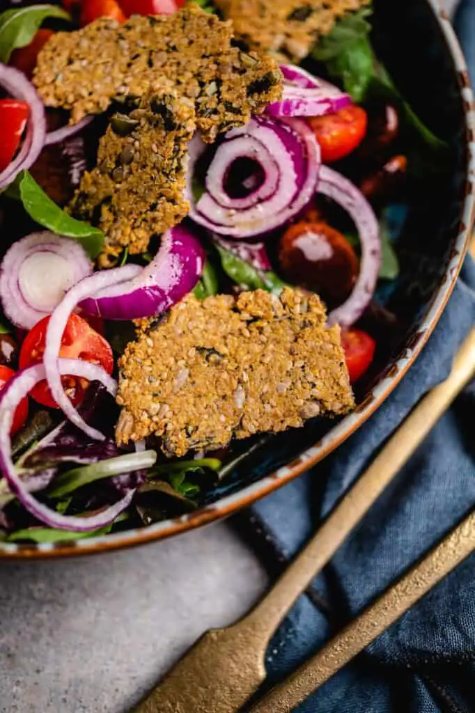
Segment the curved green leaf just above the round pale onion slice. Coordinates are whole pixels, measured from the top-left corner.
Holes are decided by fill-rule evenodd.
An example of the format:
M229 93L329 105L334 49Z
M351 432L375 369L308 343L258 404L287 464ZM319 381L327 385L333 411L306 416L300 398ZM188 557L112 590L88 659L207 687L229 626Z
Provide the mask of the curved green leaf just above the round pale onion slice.
M65 235L81 242L84 250L91 257L99 255L104 245L102 230L83 220L76 220L61 210L51 198L48 198L28 171L19 174L18 185L21 202L33 220L48 230L56 232L57 235Z

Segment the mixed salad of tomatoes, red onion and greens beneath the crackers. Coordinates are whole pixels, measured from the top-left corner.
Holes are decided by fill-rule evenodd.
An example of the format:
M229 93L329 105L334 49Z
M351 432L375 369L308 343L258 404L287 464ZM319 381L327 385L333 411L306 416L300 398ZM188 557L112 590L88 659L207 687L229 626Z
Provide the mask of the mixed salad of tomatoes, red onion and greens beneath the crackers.
M219 13L208 0L196 4ZM90 181L86 196L83 177L101 178L105 122L123 140L142 107L124 108L122 97L71 123L66 108L45 106L38 58L58 33L183 5L64 0L15 3L0 14L0 537L7 541L148 525L192 510L230 472L232 450L170 459L153 439L118 446L114 438L117 361L134 338L133 320L159 320L190 292L198 299L257 289L278 295L286 285L316 292L328 322L342 327L350 380L364 384L378 335L362 317L399 272L392 211L404 212L424 162L444 165L446 146L375 56L372 9L362 2L298 63L279 55L277 73L254 80L257 95L279 89L265 111L251 108L246 123L233 125L242 107L231 104L213 143L195 132L185 146L184 220L150 236L145 249L111 242L119 224L110 227L103 204L94 203L101 184ZM255 71L255 53L238 44L242 73ZM212 102L218 85L201 90ZM123 186L134 145L122 146L112 181ZM92 205L87 215L85 205Z

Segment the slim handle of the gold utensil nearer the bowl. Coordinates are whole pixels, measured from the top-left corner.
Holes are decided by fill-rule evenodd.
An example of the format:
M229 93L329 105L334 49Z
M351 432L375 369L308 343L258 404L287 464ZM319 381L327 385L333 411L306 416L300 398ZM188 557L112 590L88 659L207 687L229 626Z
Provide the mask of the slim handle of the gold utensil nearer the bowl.
M272 635L298 595L330 561L474 372L475 329L472 329L456 355L449 378L416 406L270 593L237 626L248 625L254 632L260 631L262 637Z

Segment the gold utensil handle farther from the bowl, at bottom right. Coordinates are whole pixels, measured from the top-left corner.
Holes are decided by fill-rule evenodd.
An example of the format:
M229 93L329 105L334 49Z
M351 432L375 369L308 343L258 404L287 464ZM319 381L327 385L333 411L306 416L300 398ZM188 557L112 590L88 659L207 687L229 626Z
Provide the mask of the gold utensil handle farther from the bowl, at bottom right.
M475 550L475 512L251 713L290 713Z

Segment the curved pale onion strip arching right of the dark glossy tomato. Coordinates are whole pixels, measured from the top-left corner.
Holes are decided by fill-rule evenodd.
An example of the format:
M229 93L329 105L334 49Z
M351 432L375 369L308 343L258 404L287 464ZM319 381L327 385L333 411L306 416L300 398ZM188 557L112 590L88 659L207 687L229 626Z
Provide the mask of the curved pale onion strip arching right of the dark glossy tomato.
M364 195L347 178L337 171L322 166L317 186L318 193L331 198L352 217L361 243L361 262L358 279L352 294L328 315L330 324L350 327L361 317L376 287L381 265L381 237L372 207Z

